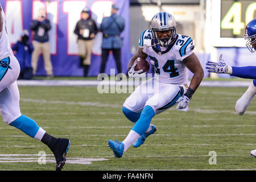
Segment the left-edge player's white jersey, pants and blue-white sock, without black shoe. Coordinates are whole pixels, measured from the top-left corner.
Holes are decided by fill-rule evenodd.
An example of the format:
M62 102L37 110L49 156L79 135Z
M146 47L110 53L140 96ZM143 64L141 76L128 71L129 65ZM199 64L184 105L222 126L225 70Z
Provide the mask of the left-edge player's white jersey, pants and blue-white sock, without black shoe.
M2 9L1 4L0 7ZM30 137L41 140L46 131L39 127L33 119L20 113L19 89L16 82L20 66L10 48L3 9L1 15L3 29L0 32L0 110L3 121L22 130Z

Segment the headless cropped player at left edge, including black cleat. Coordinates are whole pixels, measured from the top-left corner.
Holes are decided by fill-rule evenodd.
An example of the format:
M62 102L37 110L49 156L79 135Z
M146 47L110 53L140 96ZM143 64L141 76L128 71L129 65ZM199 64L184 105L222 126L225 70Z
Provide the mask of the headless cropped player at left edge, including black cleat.
M16 83L20 67L9 44L5 13L1 4L0 10L0 110L3 121L46 144L55 156L56 171L60 171L65 164L69 139L52 137L33 119L20 113L19 89Z

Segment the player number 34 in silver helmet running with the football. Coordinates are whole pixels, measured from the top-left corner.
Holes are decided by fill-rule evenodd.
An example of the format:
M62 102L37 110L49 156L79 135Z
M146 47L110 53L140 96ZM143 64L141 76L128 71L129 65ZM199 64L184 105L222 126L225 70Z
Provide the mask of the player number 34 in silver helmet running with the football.
M156 131L150 124L155 114L176 104L177 109L188 110L189 101L204 77L194 47L189 36L176 34L176 22L170 13L154 15L151 30L143 31L139 38L139 48L129 61L127 75L130 78L146 76L142 70L134 70L134 61L148 56L157 74L139 85L123 104L123 114L134 122L134 127L123 142L109 140L116 158L120 158L132 144L133 147L141 146ZM188 70L193 73L189 87Z

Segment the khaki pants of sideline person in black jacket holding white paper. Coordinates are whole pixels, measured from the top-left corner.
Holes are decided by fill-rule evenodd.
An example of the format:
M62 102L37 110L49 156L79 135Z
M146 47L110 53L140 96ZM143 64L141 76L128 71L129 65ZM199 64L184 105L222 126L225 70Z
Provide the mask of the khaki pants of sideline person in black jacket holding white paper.
M82 62L84 65L90 65L90 55L92 53L93 39L92 40L81 40L77 41L79 56L84 57Z

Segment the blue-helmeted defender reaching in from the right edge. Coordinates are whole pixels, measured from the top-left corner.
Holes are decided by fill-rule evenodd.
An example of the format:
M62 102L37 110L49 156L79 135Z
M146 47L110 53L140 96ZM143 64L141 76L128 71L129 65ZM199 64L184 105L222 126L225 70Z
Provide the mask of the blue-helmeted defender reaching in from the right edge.
M245 27L245 40L247 40L246 47L249 49L249 51L255 52L256 51L256 19L251 20ZM236 103L237 114L243 115L256 94L256 67L255 66L230 67L222 59L222 55L220 55L219 61L217 62L207 61L206 65L207 65L206 68L210 73L226 73L231 76L237 76L240 78L254 79L253 81L251 81L251 84L246 90L246 92L242 95L242 97L239 100L237 100L237 103ZM251 155L256 157L256 150L252 150Z

